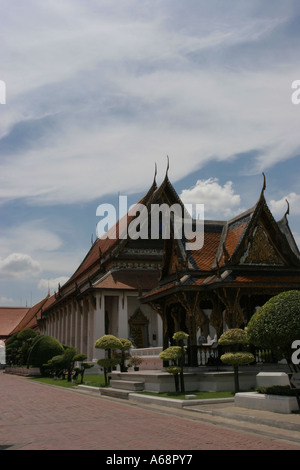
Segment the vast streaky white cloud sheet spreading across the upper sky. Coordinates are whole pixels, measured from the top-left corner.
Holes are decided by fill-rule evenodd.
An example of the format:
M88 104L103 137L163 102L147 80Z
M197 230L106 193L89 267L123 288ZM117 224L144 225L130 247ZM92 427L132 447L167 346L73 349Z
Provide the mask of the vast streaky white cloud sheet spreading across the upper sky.
M294 56L268 50L261 67L255 51L243 55L245 45L264 45L289 9L261 16L244 6L241 14L233 2L217 14L199 2L188 25L178 5L126 2L116 11L103 1L53 1L30 3L22 15L6 10L3 134L14 124L26 133L32 122L35 135L13 156L2 152L0 197L68 204L140 191L167 154L176 182L211 159L257 150L251 171L260 173L297 153ZM233 52L232 63L222 59L231 49L240 62Z

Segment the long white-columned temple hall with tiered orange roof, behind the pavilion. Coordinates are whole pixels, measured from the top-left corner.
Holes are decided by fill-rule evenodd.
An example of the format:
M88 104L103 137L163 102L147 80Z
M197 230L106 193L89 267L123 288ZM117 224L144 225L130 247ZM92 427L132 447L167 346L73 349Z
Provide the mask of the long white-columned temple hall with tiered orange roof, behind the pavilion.
M154 178L137 204L149 208L165 198L162 193L163 186L158 188ZM104 334L130 338L136 348L162 345L161 318L139 298L159 281L163 241L124 238L121 230L127 230L133 220L133 216L126 215L125 224L119 220L110 228L112 237L107 233L97 238L38 321L42 334L75 346L89 360L103 354L94 343Z

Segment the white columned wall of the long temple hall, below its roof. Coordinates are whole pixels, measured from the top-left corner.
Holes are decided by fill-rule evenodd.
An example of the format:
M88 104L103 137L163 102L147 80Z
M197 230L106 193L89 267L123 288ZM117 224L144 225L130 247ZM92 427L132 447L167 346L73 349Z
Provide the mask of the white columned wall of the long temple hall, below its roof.
M107 333L129 338L129 322L137 312L147 320L146 347L162 346L161 319L151 307L140 305L137 293L100 291L80 300L70 298L43 315L40 332L74 346L89 360L100 359L104 351L94 347L95 341Z

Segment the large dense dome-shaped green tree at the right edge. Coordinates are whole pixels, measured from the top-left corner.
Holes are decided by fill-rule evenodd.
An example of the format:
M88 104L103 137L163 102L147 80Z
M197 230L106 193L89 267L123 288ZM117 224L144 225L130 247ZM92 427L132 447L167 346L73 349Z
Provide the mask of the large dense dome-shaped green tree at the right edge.
M269 299L250 319L247 335L251 344L271 349L277 359L292 362L292 344L300 339L300 291L282 292Z

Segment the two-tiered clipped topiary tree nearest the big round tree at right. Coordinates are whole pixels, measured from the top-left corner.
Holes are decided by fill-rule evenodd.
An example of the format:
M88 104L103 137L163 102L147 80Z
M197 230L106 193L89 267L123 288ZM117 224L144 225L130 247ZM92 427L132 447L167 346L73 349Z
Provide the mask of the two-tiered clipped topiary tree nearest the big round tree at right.
M219 338L220 346L229 347L230 352L226 352L221 356L224 364L233 366L234 371L234 389L235 393L239 392L239 366L251 364L254 356L248 351L241 350L248 344L248 338L245 330L240 328L232 328L225 331Z

